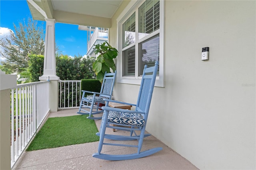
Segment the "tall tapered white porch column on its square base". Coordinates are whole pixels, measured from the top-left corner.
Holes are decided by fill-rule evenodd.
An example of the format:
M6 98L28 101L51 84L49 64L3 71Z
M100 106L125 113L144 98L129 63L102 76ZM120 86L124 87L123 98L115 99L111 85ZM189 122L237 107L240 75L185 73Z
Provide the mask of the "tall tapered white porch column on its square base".
M55 59L55 19L45 18L44 74L39 80L50 80L50 111L58 111L58 80ZM48 79L49 78L49 79Z

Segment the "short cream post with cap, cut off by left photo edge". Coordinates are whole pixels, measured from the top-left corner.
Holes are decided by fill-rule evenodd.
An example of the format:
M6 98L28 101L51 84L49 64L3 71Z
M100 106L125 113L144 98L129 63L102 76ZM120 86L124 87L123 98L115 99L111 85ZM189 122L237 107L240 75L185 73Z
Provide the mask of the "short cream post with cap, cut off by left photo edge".
M17 76L0 70L0 170L11 169L10 89L16 88Z

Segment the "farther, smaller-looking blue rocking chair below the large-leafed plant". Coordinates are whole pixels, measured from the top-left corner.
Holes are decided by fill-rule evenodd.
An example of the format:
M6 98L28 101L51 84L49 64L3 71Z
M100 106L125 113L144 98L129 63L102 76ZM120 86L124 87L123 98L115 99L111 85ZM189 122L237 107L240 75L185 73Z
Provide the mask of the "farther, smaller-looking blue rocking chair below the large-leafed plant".
M92 117L92 115L100 114L104 112L104 110L101 110L100 104L105 104L105 101L103 99L111 99L115 79L116 79L116 71L114 73L105 72L104 78L102 81L101 90L99 93L82 90L83 94L81 98L79 111L76 113L89 114L89 116L87 117L88 119L93 119L93 120L101 119L102 117ZM91 93L92 95L85 96L85 93ZM86 108L90 109L90 111L85 110Z

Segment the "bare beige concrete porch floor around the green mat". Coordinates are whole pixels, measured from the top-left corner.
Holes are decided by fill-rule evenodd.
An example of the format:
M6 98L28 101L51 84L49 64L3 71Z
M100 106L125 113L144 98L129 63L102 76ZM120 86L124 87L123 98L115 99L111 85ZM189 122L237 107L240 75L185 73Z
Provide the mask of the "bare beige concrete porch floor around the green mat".
M48 117L62 117L78 115L78 109L60 110L52 112ZM101 120L96 120L98 129ZM118 130L108 133L126 133ZM127 141L126 141L127 142ZM129 141L136 142L136 141ZM92 154L97 152L98 142L63 146L59 148L43 149L36 151L24 151L21 158L12 170L195 170L196 166L174 152L171 148L160 142L154 136L144 139L142 150L154 147L162 147L163 150L150 156L122 161L109 161L93 158ZM134 150L135 149L135 150ZM129 154L136 152L136 148L117 148L114 146L103 146L102 152L108 154Z

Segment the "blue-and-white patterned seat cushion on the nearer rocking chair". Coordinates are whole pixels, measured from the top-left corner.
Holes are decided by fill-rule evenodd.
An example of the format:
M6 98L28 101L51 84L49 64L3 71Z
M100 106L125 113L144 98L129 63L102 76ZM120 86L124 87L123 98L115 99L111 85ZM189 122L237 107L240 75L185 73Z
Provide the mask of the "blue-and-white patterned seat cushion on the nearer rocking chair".
M109 111L108 122L144 126L145 120L141 114Z

